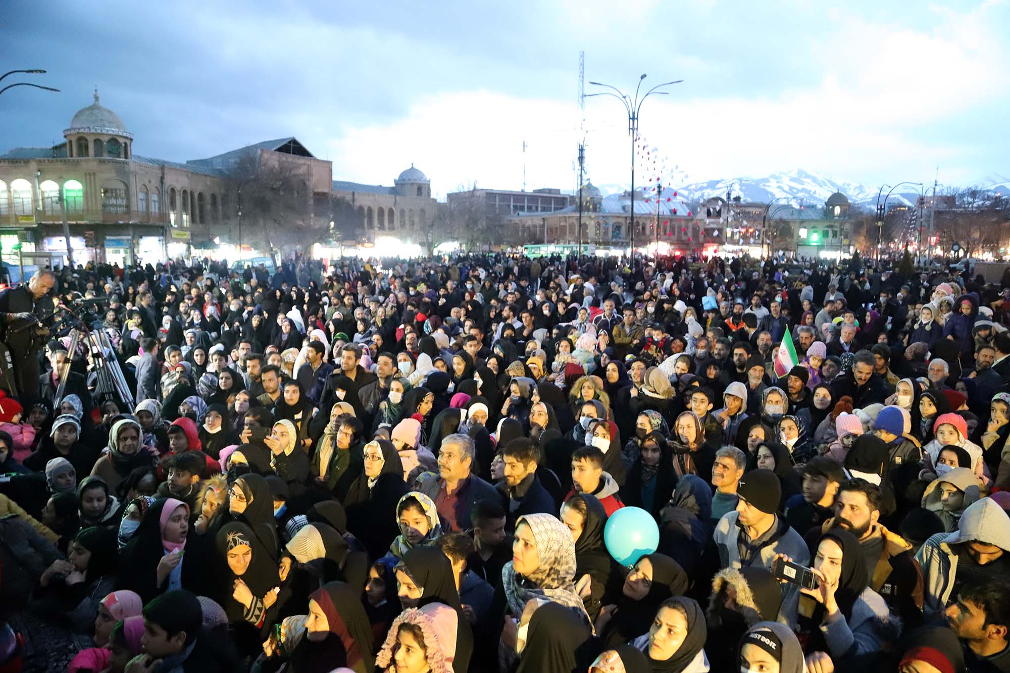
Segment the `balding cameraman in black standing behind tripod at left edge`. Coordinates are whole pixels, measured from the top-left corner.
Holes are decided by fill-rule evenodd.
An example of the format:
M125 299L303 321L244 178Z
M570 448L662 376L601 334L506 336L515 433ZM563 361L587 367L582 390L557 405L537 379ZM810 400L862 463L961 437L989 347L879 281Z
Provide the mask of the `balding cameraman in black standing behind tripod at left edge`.
M53 298L47 296L57 279L39 269L26 284L0 292L0 330L14 362L14 381L27 407L38 397L38 352L44 343L36 339L32 318L44 323L53 316ZM2 363L0 363L2 364Z

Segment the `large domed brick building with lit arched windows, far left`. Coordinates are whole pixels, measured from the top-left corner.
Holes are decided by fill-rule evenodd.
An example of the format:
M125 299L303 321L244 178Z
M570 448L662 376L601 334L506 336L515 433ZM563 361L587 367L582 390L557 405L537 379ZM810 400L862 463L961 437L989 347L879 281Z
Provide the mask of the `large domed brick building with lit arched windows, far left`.
M307 212L329 218L331 164L294 137L186 163L144 157L134 154L133 134L97 90L63 135L54 147L0 155L0 256L8 263L17 263L17 245L65 255L64 215L77 264L174 259L216 249L215 237L239 244L229 171L245 156L296 163L309 185Z

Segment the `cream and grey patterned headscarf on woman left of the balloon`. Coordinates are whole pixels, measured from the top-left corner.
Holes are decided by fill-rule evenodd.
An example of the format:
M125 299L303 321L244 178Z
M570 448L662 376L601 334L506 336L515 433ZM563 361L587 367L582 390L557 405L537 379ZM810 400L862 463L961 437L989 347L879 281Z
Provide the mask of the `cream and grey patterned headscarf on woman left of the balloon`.
M525 586L509 561L502 569L502 584L513 614L522 614L531 598L546 598L579 613L590 629L592 620L586 612L582 598L575 590L575 543L568 527L550 514L526 514L516 521L516 527L525 523L536 542L539 565L526 577L535 587ZM595 631L594 631L595 634Z

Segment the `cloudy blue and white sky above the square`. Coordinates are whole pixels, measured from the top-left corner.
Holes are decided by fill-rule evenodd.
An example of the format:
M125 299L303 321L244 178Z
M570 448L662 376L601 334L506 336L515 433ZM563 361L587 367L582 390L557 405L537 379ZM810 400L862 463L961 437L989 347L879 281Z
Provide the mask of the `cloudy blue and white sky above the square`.
M460 185L627 183L618 100L598 81L683 79L642 106L655 172L687 183L803 168L866 184L1010 175L1010 0L972 2L35 2L8 0L0 152L62 139L91 102L136 154L185 161L295 135L335 179L411 163ZM16 81L8 78L3 84ZM582 130L580 130L582 129ZM643 179L645 172L639 173Z

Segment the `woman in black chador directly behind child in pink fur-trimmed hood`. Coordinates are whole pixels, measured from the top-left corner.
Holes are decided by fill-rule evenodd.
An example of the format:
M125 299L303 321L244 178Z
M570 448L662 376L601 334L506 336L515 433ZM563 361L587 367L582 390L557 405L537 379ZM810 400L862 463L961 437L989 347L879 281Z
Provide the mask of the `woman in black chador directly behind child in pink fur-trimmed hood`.
M571 539L571 538L570 538ZM400 602L405 608L441 603L456 611L456 655L452 670L464 673L474 652L474 635L463 613L452 566L436 547L415 547L395 567ZM392 631L392 630L391 630Z

